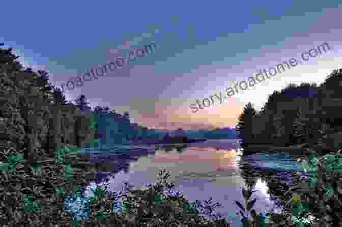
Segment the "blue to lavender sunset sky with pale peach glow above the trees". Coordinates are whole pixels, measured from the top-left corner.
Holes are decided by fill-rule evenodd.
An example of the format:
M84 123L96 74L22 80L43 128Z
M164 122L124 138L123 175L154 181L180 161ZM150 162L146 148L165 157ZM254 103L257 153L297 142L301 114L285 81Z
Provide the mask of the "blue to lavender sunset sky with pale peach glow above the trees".
M234 127L244 106L259 110L289 83L320 84L342 68L340 1L5 1L0 43L60 87L118 56L157 48L83 86L90 106L128 111L140 125L175 130ZM4 10L6 9L6 10ZM193 113L196 100L327 42L330 50Z

